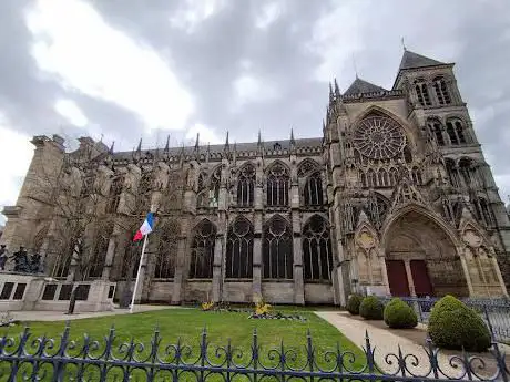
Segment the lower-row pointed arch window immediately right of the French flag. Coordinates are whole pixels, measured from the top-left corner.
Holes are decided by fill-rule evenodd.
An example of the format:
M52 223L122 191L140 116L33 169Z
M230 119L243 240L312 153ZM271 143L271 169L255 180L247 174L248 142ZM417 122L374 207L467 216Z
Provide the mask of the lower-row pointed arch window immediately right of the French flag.
M180 227L174 220L163 224L157 242L155 279L172 279L175 275Z

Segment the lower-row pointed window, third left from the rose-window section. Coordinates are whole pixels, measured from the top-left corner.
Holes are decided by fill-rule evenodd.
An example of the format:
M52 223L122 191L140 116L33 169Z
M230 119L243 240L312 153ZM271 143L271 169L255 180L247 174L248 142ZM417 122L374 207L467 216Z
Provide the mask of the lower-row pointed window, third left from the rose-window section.
M253 277L253 226L244 217L237 218L228 229L226 244L226 278Z

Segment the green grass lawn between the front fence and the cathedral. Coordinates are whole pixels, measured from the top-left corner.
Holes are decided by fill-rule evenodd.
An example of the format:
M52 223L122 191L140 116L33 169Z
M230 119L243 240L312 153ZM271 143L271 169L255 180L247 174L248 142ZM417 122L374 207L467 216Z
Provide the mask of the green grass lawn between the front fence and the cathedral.
M269 360L268 351L271 348L279 348L283 341L286 348L295 349L298 354L294 361L289 360L289 365L299 366L306 361L306 333L309 330L314 347L316 348L316 357L320 365L332 365L326 363L323 357L326 350L336 349L337 343L343 351L353 351L355 353L357 361L353 365L354 369L358 369L364 364L364 354L361 350L338 332L336 328L312 312L300 312L299 314L307 319L306 322L253 320L247 319L248 313L202 312L196 309L167 309L136 314L75 320L71 321L70 333L71 338L78 340L78 344L82 345L83 333L88 333L92 339L102 340L108 335L113 324L116 333L114 354L119 355L118 347L122 342L129 342L131 338L133 338L135 342L143 342L146 345L142 355L147 355L154 328L159 328L162 338L162 344L160 345L161 354L164 354L166 344L175 344L177 339L181 338L183 344L193 347L193 354L187 358L187 360L192 360L198 355L201 332L204 327L206 327L207 342L211 343L208 355L212 361L217 360L215 358L215 345L226 345L228 339L231 339L232 347L243 350L243 355L235 359L237 363L243 363L247 362L251 358L249 349L253 340L253 330L257 329L258 343L262 347L261 361L264 362L264 364L277 364L277 360ZM30 330L33 337L45 334L49 338L59 338L63 329L63 322L30 323ZM19 326L3 330L3 332L0 331L0 333L11 337L19 334L22 330L23 328ZM102 345L100 345L100 349L95 351L95 353L100 353L104 349L104 341L101 343ZM72 351L71 353L74 354L76 351ZM1 370L4 370L6 366L7 365L3 364L2 368L0 368L0 381L7 380L6 375L1 375ZM218 375L212 375L212 378L207 380L216 381L217 376ZM194 380L194 378L181 378L181 380L190 379ZM113 381L113 378L109 380ZM144 379L141 379L141 381L144 381Z

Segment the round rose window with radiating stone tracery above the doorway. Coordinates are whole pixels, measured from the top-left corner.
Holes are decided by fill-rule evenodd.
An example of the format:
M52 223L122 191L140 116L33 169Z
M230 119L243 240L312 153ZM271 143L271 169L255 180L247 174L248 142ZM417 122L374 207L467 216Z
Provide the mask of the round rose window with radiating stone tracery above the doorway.
M354 145L369 158L388 159L404 149L406 137L401 127L391 118L370 116L356 127Z

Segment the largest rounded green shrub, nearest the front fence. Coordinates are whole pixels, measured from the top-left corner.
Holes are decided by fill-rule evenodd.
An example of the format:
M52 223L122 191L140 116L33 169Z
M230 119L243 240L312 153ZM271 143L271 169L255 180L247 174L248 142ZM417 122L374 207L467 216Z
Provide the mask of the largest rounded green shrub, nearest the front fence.
M489 329L473 310L453 296L446 296L432 308L428 324L432 342L443 349L484 351L491 345Z

